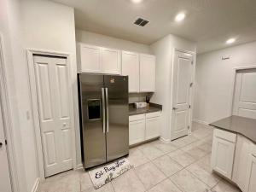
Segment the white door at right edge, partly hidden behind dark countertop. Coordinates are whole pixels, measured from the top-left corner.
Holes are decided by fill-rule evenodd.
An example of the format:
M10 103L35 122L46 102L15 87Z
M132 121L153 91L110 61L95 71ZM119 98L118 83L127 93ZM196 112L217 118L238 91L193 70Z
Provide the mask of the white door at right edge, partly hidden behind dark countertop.
M236 73L233 114L256 119L256 69Z

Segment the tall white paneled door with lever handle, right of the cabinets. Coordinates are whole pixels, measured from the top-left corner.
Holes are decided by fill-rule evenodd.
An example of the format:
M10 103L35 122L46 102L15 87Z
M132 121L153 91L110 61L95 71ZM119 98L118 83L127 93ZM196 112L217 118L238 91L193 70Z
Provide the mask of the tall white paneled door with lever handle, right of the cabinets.
M172 140L188 135L192 65L193 55L175 51L172 79Z

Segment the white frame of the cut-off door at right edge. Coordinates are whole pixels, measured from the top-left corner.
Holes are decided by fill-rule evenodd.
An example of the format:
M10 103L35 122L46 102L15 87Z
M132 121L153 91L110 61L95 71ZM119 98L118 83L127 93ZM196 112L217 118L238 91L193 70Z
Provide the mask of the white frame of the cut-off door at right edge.
M234 108L234 99L235 99L235 90L236 90L236 73L240 70L250 70L256 69L256 65L254 66L245 66L245 67L234 67L232 70L232 86L230 91L230 116L233 114Z

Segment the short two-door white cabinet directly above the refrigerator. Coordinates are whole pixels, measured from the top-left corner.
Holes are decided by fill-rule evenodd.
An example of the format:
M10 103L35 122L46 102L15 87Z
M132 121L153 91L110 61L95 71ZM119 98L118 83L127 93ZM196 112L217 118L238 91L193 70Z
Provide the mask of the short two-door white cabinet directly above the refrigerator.
M120 74L120 51L88 44L79 44L81 73Z

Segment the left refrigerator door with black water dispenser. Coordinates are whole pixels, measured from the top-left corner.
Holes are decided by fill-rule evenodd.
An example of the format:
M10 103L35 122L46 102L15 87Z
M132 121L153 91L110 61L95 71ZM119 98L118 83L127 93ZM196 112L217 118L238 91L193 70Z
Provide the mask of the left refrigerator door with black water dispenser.
M106 162L103 75L79 74L79 99L84 168Z

